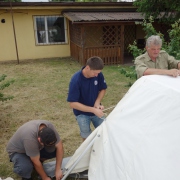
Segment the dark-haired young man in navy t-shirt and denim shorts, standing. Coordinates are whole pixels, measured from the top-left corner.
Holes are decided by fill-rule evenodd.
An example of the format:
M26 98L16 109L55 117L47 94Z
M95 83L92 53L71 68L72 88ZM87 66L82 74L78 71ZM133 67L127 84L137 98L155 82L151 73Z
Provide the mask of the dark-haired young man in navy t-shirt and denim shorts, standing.
M91 57L87 60L86 66L73 75L69 84L67 101L73 108L83 140L91 133L91 122L96 128L104 120L101 100L107 85L101 72L103 67L100 57Z

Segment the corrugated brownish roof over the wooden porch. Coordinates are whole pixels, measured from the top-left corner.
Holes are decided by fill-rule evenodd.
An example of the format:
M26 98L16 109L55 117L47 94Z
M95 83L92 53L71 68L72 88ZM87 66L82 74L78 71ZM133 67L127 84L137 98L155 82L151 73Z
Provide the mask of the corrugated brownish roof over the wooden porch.
M144 17L138 12L63 12L63 16L77 22L95 22L95 21L138 21Z

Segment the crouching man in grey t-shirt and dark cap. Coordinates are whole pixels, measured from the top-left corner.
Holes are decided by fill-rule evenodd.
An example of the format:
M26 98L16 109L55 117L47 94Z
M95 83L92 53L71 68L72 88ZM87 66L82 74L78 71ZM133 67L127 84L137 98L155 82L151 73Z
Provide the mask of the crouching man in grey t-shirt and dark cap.
M9 140L6 150L14 164L14 172L22 180L31 180L33 169L42 180L51 180L45 173L42 162L56 158L55 176L63 176L61 163L63 145L54 126L46 120L32 120L22 125Z

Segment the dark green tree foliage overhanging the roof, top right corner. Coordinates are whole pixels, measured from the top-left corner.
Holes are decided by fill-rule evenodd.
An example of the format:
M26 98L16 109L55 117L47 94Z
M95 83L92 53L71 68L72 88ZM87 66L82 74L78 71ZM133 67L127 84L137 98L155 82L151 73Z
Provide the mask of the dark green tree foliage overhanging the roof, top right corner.
M153 16L154 19L173 23L180 18L180 0L135 0L133 5L146 19ZM161 17L160 13L163 13Z

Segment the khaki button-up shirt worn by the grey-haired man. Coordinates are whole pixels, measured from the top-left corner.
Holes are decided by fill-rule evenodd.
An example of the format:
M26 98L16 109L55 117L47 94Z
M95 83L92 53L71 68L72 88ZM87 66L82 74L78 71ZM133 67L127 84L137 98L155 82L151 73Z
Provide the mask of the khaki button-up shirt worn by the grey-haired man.
M160 51L156 61L152 61L148 53L142 54L135 59L137 78L143 76L148 68L154 69L173 69L178 67L180 61L170 56L166 51Z

